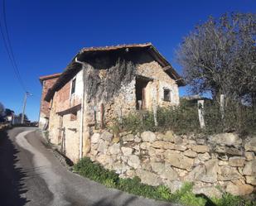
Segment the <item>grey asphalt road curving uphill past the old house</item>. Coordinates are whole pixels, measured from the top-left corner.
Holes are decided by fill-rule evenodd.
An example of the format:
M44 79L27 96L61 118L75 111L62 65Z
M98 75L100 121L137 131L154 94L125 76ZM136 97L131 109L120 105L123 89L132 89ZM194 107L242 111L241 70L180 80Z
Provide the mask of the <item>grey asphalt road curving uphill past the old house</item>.
M41 142L33 127L0 132L0 206L167 206L76 175Z

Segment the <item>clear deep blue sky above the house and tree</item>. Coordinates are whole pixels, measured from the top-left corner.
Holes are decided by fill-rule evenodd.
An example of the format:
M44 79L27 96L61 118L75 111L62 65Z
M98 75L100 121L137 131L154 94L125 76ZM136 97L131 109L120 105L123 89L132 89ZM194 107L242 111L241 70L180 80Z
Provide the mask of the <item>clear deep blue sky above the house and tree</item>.
M2 20L2 0L1 20ZM41 98L38 77L61 72L86 46L152 42L181 74L174 51L193 27L210 15L256 12L255 0L75 1L6 0L7 26L27 90L27 116L37 120ZM22 112L18 84L0 38L0 102ZM186 95L186 88L180 90Z

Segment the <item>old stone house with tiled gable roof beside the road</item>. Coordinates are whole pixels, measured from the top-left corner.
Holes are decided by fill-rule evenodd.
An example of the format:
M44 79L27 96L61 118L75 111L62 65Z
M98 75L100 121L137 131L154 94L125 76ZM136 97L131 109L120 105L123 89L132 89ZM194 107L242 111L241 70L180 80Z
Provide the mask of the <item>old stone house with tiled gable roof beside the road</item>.
M94 128L137 110L176 106L185 85L151 43L84 48L63 73L40 80L39 125L72 161L89 152Z

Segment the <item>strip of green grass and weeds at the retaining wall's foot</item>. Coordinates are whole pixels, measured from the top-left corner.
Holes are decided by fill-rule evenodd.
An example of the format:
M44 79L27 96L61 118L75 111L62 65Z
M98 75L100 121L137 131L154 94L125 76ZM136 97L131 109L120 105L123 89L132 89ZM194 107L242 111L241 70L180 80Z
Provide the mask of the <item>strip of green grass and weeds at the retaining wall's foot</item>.
M185 183L181 189L171 194L170 189L164 185L151 186L142 184L138 177L133 179L121 179L114 171L106 170L102 165L95 164L88 157L80 160L74 165L78 174L104 184L108 188L120 189L129 194L149 199L164 200L172 203L179 203L184 206L255 206L252 201L246 201L241 197L232 194L224 194L221 199L209 199L205 196L192 193L193 184Z

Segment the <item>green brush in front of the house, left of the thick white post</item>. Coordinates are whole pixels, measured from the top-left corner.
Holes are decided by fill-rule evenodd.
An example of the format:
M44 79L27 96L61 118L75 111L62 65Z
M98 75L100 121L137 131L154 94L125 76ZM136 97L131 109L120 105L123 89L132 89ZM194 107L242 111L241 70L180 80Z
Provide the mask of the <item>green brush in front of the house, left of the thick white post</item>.
M197 108L189 105L186 101L181 101L179 107L157 108L157 127L154 122L154 115L151 111L138 111L138 113L129 113L123 117L119 128L125 131L166 131L171 129L175 132L193 132L199 126ZM119 129L120 130L120 129Z

